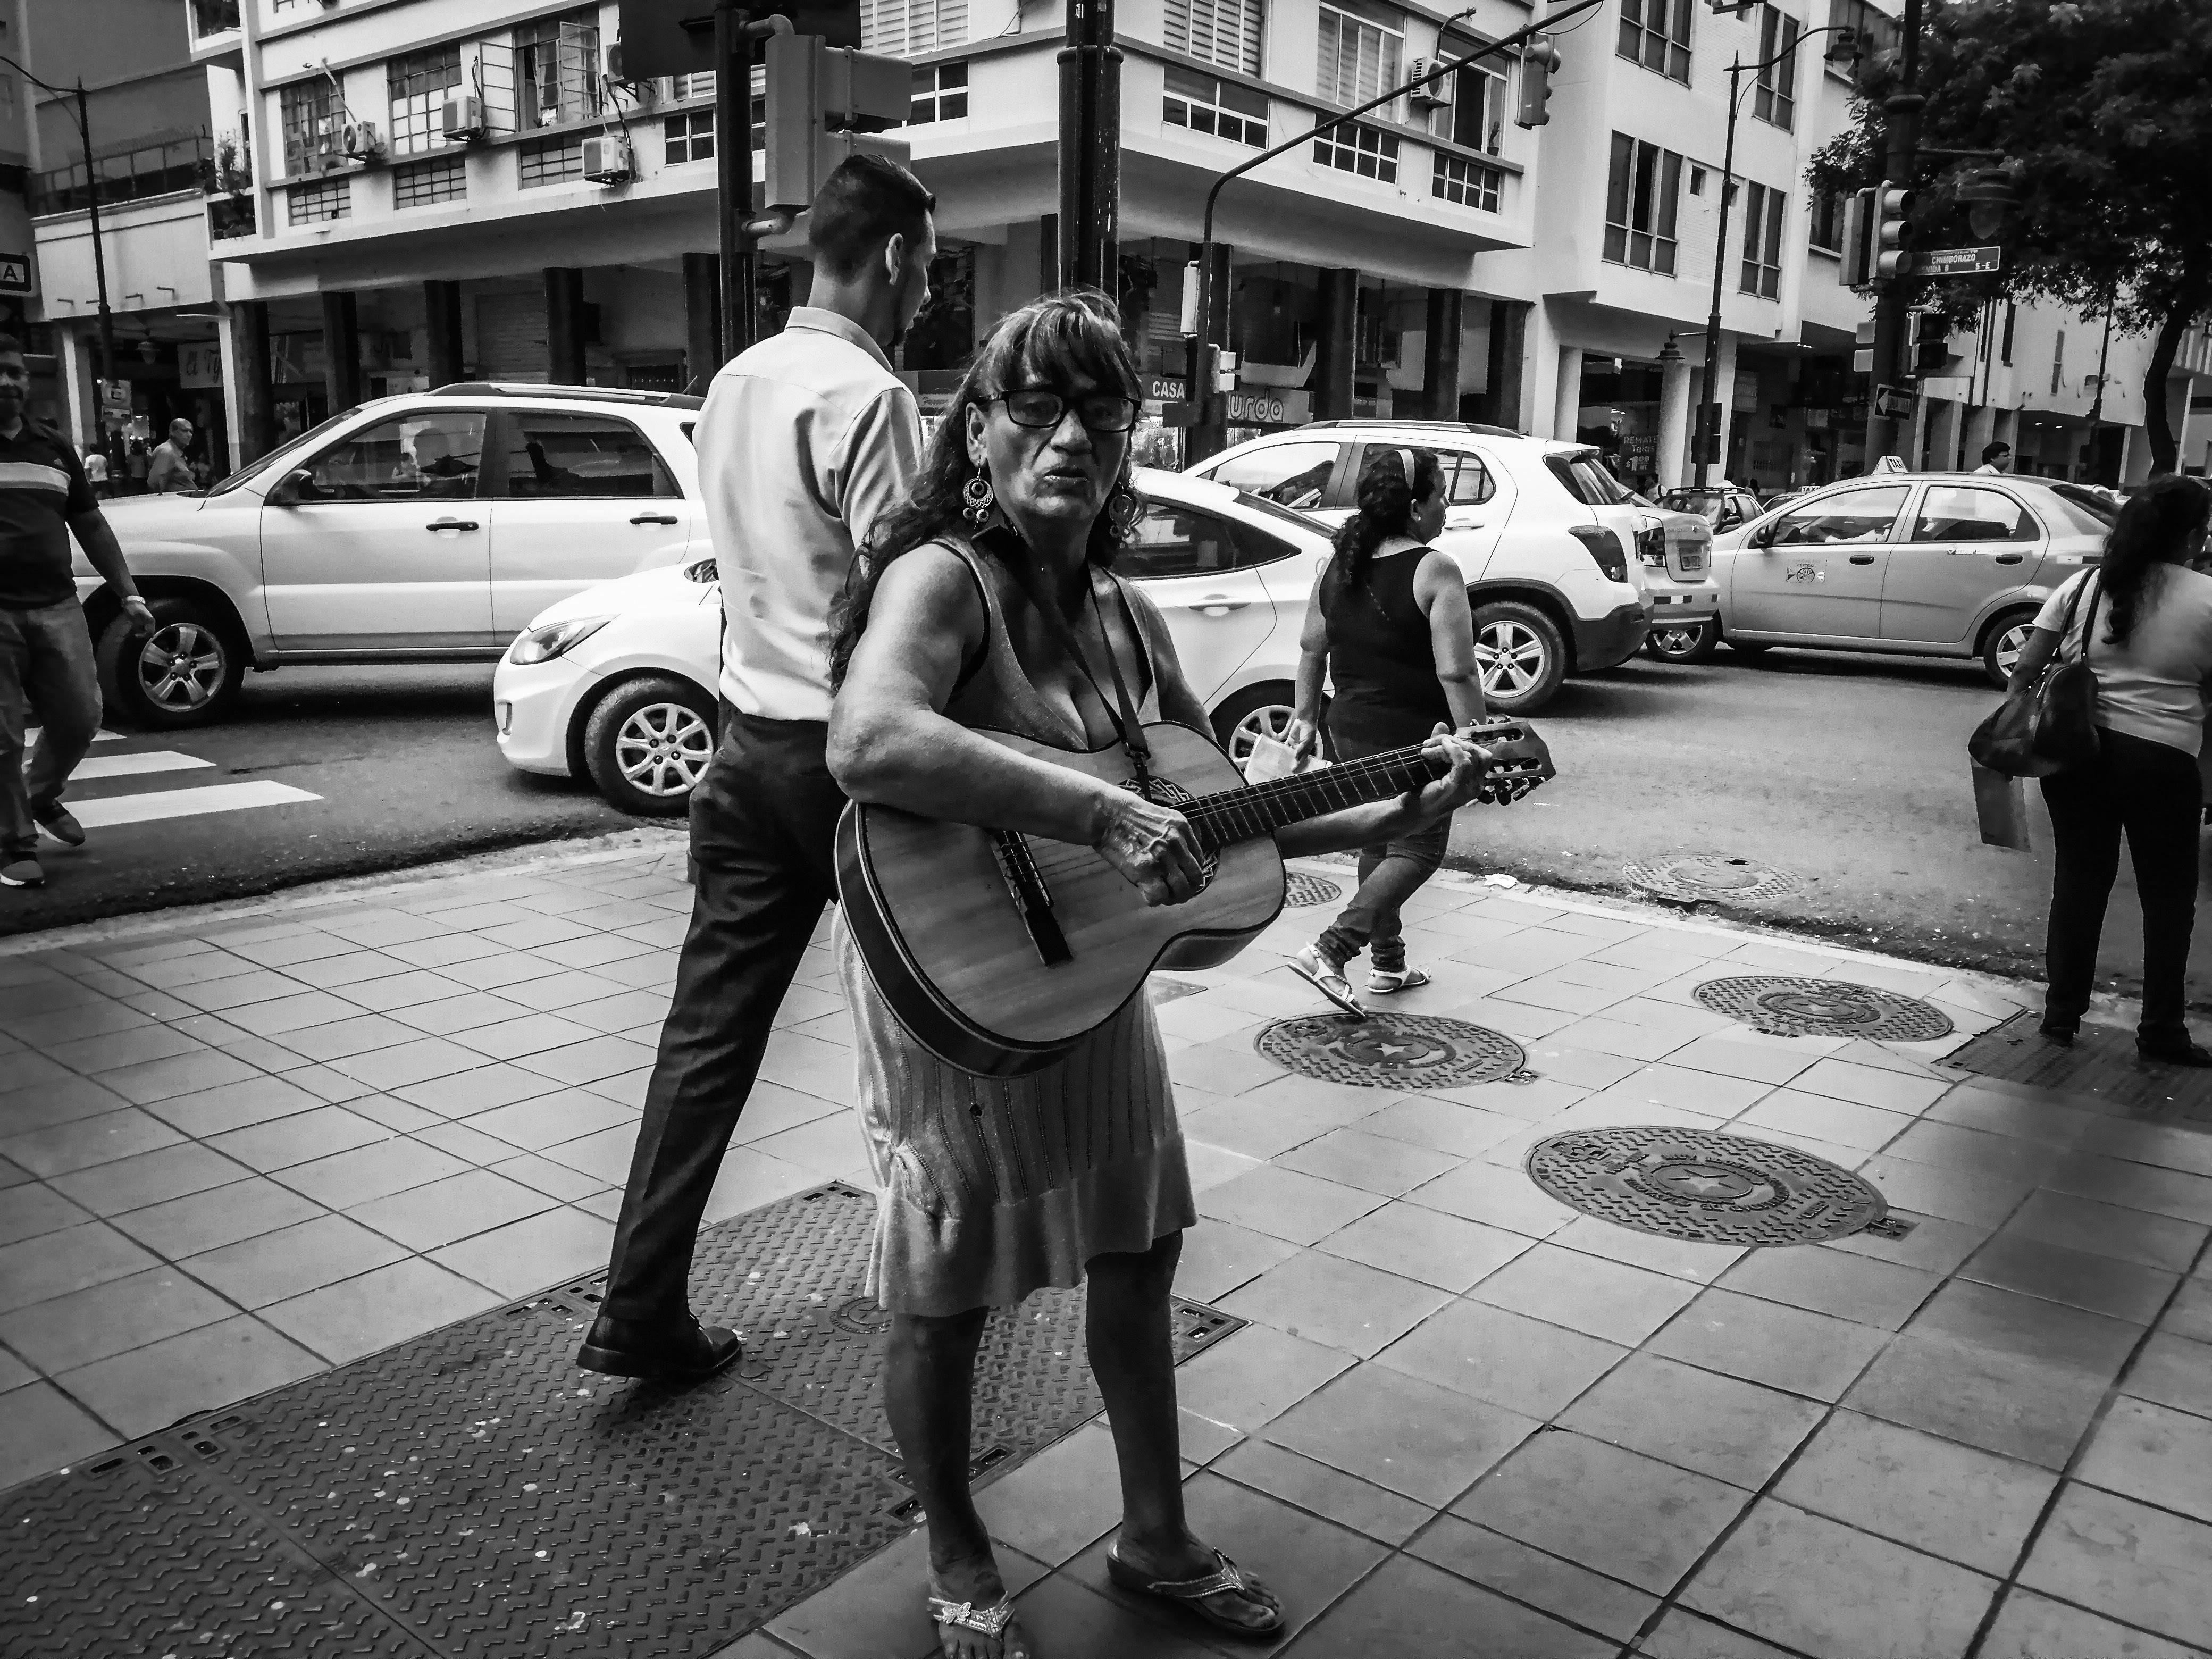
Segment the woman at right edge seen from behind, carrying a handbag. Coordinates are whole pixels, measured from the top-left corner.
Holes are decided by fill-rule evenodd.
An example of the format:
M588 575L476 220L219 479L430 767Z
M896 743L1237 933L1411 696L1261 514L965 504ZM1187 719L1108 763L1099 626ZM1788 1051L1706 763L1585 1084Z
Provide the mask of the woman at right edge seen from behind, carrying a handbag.
M2212 577L2203 555L2212 493L2194 478L2159 478L2119 509L2104 562L2068 580L2035 617L2013 692L2055 657L2097 675L2097 752L2042 779L2057 843L2044 964L2046 1040L2068 1046L2088 1011L2104 907L2128 836L2143 905L2146 1060L2212 1066L2183 1022L2183 973L2197 920L2197 830L2203 785L2205 686L2212 681Z

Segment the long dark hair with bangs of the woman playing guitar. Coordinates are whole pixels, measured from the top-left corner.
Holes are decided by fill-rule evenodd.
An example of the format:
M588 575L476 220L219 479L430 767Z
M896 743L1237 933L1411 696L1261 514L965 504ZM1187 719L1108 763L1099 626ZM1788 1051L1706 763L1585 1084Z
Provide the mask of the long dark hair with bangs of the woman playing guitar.
M1137 358L1121 336L1121 310L1095 288L1068 288L1006 312L984 338L975 361L960 376L951 407L938 420L936 436L922 456L922 471L907 493L887 507L869 526L867 546L858 551L836 604L836 635L830 644L830 686L845 684L852 648L867 628L867 611L891 560L929 542L964 538L962 491L982 467L967 453L967 411L982 409L1009 387L1071 385L1091 380L1102 392L1144 396ZM1128 542L1135 513L1135 489L1128 465L1115 482L1106 511L1091 526L1091 562L1110 566Z

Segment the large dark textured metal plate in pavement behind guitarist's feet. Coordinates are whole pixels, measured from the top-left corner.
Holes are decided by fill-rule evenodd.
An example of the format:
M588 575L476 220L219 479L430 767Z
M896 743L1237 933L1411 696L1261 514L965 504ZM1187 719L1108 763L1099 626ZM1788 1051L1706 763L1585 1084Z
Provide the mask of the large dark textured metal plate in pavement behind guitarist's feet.
M0 1652L708 1655L916 1520L863 1294L874 1197L701 1234L748 1356L688 1391L575 1369L580 1281L0 1493ZM1082 1292L987 1327L975 1451L1099 1407ZM1241 1321L1177 1303L1177 1358Z

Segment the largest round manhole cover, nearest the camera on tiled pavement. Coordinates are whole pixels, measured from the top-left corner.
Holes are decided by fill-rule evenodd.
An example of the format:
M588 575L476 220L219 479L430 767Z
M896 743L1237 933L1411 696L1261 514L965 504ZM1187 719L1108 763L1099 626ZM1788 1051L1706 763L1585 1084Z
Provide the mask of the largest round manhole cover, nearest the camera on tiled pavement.
M1889 1206L1827 1159L1699 1128L1579 1128L1537 1141L1528 1179L1637 1232L1725 1245L1843 1239Z

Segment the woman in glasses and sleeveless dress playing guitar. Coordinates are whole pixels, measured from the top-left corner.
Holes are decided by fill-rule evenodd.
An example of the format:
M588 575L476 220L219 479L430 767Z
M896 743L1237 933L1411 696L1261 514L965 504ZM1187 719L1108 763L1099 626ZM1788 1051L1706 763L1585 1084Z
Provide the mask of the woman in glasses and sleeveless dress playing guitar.
M1110 571L1141 513L1137 398L1104 294L1055 294L1000 321L911 498L863 555L834 646L830 770L854 801L1097 847L1148 902L1177 905L1208 880L1181 812L975 730L1102 750L1121 741L1124 703L1208 730L1159 613ZM1480 787L1469 745L1440 739L1438 752L1451 774L1418 796L1312 818L1279 845L1420 832ZM991 1307L1086 1279L1091 1371L1121 1471L1108 1575L1214 1632L1274 1641L1283 1604L1183 1515L1168 1290L1197 1208L1150 1002L1130 998L1044 1071L975 1077L898 1024L843 927L836 958L878 1183L869 1290L891 1314L885 1405L929 1520L942 1652L1035 1655L969 1491L975 1347Z

